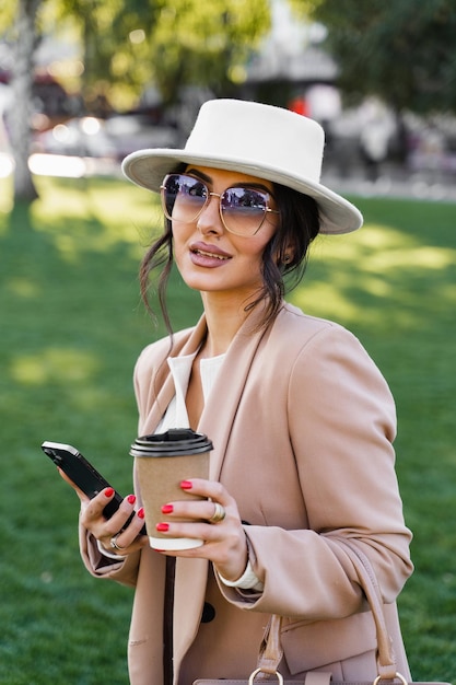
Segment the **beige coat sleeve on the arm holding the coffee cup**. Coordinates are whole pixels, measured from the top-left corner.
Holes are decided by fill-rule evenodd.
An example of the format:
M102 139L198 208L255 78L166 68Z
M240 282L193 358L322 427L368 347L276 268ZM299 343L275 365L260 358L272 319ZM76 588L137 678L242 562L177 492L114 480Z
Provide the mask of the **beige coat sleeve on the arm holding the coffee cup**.
M307 340L289 367L289 441L308 527L246 526L264 592L248 596L222 583L220 589L247 609L309 622L349 616L362 608L344 550L350 538L370 559L384 601L394 602L412 565L389 388L358 339L337 325Z

